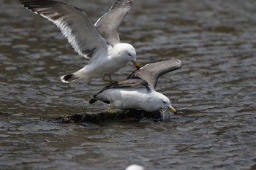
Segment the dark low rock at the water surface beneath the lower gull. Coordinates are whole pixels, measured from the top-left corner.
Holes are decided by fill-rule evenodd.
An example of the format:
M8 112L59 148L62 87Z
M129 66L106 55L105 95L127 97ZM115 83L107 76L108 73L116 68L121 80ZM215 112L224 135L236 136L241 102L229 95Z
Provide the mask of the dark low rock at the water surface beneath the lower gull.
M162 121L162 114L160 112L145 112L142 110L127 110L126 112L100 112L100 113L79 113L75 115L67 115L56 117L56 121L60 123L105 123L111 120L124 120L128 118L135 118L141 120L148 118L154 121Z

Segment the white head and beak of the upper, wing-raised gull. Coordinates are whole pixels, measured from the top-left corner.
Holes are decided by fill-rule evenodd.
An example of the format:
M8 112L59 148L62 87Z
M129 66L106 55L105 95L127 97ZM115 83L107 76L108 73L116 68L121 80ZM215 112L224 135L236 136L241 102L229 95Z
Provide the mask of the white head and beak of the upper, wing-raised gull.
M119 53L119 56L121 58L124 58L127 61L132 61L136 69L140 69L140 65L136 58L136 51L135 48L132 47L132 45L128 43L120 43L115 45L114 48L116 49L116 52Z

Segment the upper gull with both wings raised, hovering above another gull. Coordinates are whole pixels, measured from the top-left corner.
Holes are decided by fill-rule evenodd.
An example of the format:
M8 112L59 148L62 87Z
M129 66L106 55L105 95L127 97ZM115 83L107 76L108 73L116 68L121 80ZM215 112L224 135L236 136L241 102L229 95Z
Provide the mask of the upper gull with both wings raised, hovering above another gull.
M132 0L117 0L109 12L102 15L93 24L86 12L61 1L20 0L23 7L47 18L61 29L75 51L89 63L72 74L61 77L62 82L99 78L110 75L132 61L140 69L136 61L136 51L132 45L121 43L118 29L129 12ZM111 77L110 77L111 79Z

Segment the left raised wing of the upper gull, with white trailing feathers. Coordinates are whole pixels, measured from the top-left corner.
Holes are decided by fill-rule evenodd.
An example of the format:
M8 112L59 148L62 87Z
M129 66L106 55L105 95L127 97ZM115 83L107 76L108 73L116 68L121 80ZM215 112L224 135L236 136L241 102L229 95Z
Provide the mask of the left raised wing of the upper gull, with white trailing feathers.
M23 7L47 18L61 29L75 51L91 58L99 49L107 53L108 44L91 23L86 12L60 1L20 0Z

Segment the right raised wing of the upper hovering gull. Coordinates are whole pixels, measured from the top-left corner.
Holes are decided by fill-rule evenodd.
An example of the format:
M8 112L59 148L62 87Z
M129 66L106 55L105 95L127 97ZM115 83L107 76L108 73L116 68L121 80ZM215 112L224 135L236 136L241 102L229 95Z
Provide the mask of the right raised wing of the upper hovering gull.
M110 11L105 13L95 26L110 45L120 43L118 29L131 8L132 0L117 0Z

